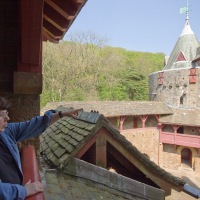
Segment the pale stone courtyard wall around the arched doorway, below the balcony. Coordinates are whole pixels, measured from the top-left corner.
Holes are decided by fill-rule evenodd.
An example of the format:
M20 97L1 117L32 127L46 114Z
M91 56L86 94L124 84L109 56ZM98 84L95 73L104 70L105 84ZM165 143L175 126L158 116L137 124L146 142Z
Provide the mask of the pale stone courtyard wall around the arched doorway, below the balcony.
M121 133L141 153L162 168L179 170L181 167L181 150L183 146L159 143L157 128L138 128L123 130ZM193 170L200 172L200 155L198 149L189 148L192 151Z

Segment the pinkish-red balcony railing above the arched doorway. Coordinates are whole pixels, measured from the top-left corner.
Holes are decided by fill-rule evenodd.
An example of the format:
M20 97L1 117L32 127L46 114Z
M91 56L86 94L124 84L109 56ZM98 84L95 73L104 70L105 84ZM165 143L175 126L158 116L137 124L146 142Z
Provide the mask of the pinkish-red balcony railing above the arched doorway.
M200 148L200 136L197 135L161 132L160 142Z

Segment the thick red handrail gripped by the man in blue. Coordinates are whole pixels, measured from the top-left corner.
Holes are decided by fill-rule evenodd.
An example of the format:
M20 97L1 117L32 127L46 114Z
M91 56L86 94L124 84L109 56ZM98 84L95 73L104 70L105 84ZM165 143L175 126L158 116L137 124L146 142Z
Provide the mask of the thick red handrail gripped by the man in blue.
M28 145L22 148L21 151L21 162L22 171L24 174L24 183L31 180L31 182L39 181L41 182L38 162L36 158L35 147L33 145ZM26 200L44 200L44 193L40 192L30 197Z

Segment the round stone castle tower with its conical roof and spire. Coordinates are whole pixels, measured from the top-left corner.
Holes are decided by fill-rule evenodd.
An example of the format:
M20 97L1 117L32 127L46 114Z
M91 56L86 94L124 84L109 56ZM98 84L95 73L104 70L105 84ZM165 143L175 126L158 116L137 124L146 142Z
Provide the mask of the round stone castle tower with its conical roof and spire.
M200 43L186 22L163 71L149 76L149 99L174 107L200 107Z

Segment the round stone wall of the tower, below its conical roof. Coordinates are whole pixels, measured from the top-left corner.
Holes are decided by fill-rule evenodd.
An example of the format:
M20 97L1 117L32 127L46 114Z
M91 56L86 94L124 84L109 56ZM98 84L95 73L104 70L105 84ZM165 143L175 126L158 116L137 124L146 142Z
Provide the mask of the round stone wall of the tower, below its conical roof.
M197 69L199 74L200 68ZM173 106L199 106L200 81L189 83L190 69L166 70L163 84L158 85L159 72L149 76L149 99ZM183 103L181 104L181 97Z

